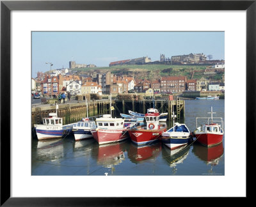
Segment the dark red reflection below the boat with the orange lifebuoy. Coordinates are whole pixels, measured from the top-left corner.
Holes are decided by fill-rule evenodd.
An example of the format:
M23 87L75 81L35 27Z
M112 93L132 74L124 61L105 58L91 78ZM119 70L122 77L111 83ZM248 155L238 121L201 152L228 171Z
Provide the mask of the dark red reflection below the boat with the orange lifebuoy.
M155 142L152 144L137 145L131 142L128 150L128 157L131 162L139 164L145 160L152 160L158 157L161 151L161 142Z

